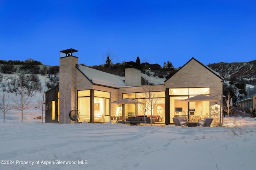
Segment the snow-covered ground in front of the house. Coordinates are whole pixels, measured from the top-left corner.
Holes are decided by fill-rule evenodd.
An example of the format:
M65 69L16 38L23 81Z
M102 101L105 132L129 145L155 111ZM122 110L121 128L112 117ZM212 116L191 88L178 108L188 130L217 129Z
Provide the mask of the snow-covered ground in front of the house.
M30 107L0 113L0 170L253 170L256 120L225 127L42 124Z

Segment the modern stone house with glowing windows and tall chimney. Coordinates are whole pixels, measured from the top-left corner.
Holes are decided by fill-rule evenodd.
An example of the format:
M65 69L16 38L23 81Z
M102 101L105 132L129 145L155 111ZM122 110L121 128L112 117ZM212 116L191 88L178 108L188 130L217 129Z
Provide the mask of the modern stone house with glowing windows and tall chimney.
M223 92L220 74L194 58L168 80L161 80L148 77L136 68L126 68L125 77L120 77L78 65L76 52L75 49L60 51L60 81L56 90L46 93L46 103L52 104L46 110L46 122L76 123L69 118L74 108L80 112L80 122L109 122L119 108L119 104L110 102L124 98L143 104L122 104L122 117L152 115L156 123L166 125L174 123L172 117L193 121L212 117L212 125L220 122L220 102L184 101L199 94L220 99ZM154 85L142 86L142 77Z

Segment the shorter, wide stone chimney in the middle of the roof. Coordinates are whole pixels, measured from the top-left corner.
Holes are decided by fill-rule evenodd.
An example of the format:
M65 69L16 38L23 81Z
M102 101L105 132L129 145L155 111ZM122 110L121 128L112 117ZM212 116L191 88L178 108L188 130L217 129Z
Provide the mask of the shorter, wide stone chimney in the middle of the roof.
M125 68L126 86L141 86L141 71L136 68Z

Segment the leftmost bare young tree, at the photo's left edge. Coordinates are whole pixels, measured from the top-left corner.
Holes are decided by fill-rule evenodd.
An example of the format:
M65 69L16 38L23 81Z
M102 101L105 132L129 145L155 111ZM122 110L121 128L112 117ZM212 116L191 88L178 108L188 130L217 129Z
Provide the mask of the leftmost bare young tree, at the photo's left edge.
M0 94L0 110L4 113L4 122L5 122L5 113L12 109L14 106L10 103L10 96L2 87L2 92Z

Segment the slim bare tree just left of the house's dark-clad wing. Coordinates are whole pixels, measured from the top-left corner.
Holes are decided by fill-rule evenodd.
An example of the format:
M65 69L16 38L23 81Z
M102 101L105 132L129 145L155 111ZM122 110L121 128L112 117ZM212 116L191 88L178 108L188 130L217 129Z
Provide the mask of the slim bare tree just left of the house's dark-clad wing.
M45 92L46 92L47 70L48 70L48 67L44 66L44 76L45 76L44 86L41 87L40 90L39 90L39 93L38 93L39 97L36 97L36 99L37 99L36 102L37 102L38 108L42 111L42 124L44 124L44 111L51 107L50 103L46 104L46 102L45 102L45 99L46 99Z

